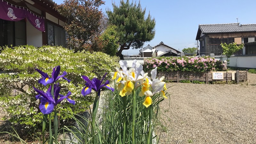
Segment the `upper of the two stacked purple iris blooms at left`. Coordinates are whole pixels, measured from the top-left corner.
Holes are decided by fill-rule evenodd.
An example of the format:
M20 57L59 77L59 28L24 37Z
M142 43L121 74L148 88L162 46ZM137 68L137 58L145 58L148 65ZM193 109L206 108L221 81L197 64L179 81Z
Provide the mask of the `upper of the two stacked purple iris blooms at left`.
M51 84L56 82L60 77L62 77L63 79L67 80L68 83L70 82L70 80L68 80L65 76L67 75L67 72L64 71L62 73L62 75L59 76L60 74L60 66L54 67L52 69L52 78L48 76L47 73L42 72L41 70L36 68L36 71L38 71L43 77L41 79L38 80L38 83L43 84L44 86L46 86L47 84Z

